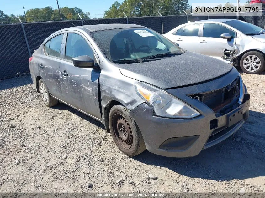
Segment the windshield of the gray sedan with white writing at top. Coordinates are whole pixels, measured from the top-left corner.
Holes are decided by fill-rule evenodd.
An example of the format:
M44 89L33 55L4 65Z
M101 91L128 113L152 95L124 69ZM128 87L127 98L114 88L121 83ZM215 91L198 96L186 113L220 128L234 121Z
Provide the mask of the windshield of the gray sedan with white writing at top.
M180 55L185 51L148 28L120 28L91 32L114 63L140 63Z

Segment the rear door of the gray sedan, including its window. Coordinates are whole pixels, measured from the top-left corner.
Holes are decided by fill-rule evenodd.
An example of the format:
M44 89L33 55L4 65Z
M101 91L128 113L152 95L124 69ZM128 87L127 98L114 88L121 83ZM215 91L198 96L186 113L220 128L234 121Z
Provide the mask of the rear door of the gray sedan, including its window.
M64 32L56 34L43 45L39 67L40 76L54 97L61 99L60 62Z

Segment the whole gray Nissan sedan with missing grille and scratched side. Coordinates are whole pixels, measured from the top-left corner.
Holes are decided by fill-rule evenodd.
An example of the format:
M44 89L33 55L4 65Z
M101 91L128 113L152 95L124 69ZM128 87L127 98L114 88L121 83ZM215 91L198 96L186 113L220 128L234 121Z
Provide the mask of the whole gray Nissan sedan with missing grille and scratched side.
M249 117L250 96L233 66L140 25L62 29L29 65L46 106L60 101L100 121L128 156L147 149L191 157Z

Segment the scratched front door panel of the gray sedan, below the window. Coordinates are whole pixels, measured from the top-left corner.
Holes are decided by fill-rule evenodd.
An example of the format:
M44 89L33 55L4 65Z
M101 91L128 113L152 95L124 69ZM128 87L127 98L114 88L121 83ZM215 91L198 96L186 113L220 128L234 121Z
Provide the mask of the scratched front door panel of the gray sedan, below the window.
M62 60L60 71L68 74L61 78L63 101L101 119L98 102L100 70L75 67L72 62Z

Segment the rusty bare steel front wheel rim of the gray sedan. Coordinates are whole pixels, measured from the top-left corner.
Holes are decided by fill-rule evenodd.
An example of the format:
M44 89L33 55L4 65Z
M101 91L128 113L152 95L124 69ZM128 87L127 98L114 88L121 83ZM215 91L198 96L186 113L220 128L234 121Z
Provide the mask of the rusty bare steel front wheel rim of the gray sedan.
M112 125L119 145L124 149L130 149L133 137L128 121L121 114L115 114L112 118Z

